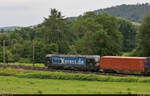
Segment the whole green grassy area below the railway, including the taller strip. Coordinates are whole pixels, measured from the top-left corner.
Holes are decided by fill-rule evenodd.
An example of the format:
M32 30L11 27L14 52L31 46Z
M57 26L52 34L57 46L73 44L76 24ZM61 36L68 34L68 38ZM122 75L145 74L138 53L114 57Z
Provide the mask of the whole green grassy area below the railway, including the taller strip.
M150 94L149 86L150 77L0 69L1 94Z

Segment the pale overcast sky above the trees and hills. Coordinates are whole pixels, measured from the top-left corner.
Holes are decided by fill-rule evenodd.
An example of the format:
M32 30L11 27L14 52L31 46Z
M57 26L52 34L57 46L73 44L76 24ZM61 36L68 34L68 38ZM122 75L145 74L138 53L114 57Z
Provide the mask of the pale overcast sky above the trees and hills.
M150 0L0 0L0 27L40 24L56 8L65 17L121 4L150 3Z

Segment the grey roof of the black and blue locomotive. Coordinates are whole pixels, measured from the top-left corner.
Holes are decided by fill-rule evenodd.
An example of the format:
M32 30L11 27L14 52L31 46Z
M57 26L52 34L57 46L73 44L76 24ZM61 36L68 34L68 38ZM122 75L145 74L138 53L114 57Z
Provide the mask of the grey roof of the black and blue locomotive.
M46 57L52 57L52 56L61 56L61 57L86 57L86 58L100 58L99 55L63 55L63 54L48 54Z

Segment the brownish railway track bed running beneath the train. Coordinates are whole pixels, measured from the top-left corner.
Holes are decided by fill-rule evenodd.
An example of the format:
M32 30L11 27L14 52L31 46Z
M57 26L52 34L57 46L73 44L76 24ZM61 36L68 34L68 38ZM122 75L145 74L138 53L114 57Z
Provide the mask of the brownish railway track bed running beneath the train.
M3 67L2 64L0 64L0 67ZM39 70L39 71L50 71L50 72L66 72L66 73L82 73L82 74L96 74L96 75L107 75L107 76L138 76L138 77L148 77L150 75L145 74L123 74L123 73L104 73L104 72L85 72L85 71L79 71L79 70L65 70L65 69L52 69L52 68L45 68L45 67L38 67L38 66L24 66L24 65L8 65L9 68L16 68L16 69L24 69L24 70Z

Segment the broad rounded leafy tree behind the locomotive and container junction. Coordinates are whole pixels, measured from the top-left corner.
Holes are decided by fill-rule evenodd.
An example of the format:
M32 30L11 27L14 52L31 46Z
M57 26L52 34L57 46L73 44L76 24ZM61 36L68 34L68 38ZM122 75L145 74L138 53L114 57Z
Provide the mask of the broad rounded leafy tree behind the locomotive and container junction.
M71 46L72 51L78 54L97 54L101 56L120 55L122 34L119 32L117 19L107 14L88 15L89 17L87 14L79 17L82 19L77 19L79 21L76 22L80 23L74 25L77 26L76 30L82 30L81 32L84 33L83 36L79 35L81 39L77 40L74 46Z

